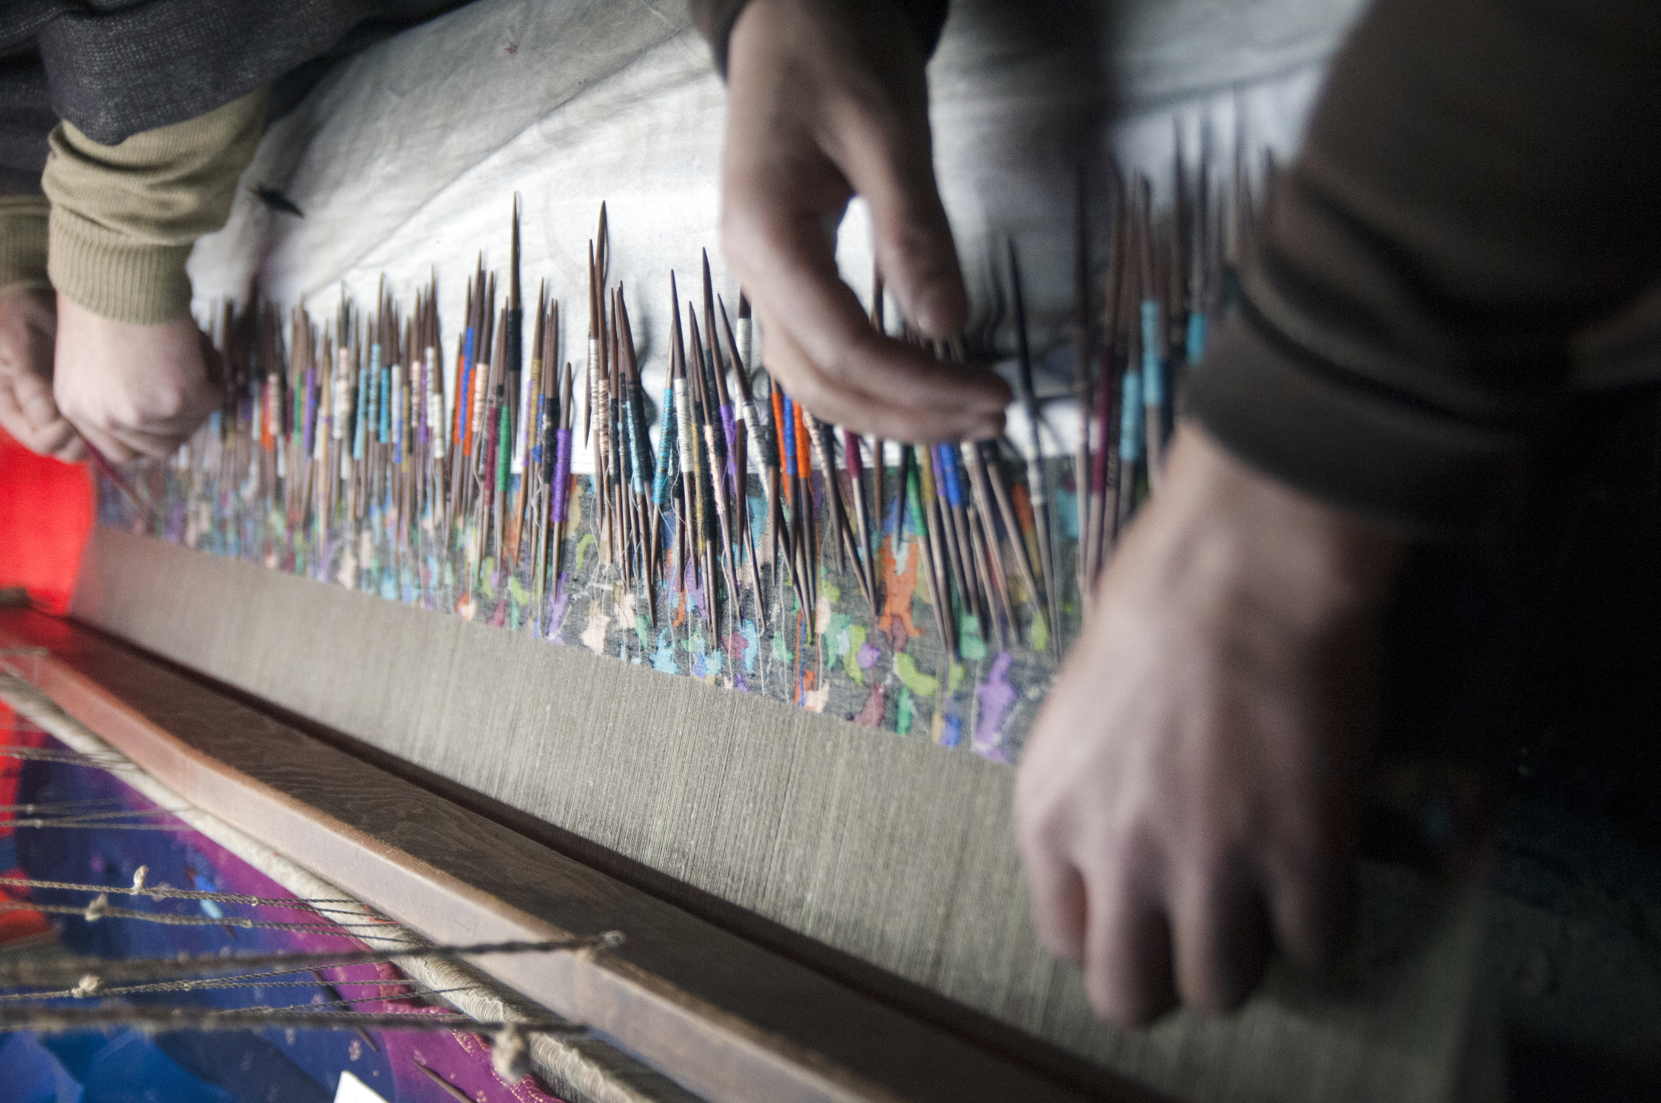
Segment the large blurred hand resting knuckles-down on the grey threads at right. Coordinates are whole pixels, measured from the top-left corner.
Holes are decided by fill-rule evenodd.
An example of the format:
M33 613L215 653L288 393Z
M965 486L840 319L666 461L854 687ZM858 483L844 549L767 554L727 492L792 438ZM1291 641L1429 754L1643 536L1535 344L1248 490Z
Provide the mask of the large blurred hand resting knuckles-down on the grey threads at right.
M1015 787L1038 935L1103 1017L1231 1008L1276 944L1335 947L1399 558L1179 430Z

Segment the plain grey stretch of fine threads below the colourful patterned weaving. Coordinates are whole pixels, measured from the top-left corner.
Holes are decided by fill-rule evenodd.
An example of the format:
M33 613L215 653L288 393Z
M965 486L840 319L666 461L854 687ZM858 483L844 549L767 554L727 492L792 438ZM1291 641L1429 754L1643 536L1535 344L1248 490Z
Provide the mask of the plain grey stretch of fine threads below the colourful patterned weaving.
M1404 870L1342 983L1121 1032L1035 942L1007 766L116 528L73 613L1178 1098L1485 1098L1483 907Z

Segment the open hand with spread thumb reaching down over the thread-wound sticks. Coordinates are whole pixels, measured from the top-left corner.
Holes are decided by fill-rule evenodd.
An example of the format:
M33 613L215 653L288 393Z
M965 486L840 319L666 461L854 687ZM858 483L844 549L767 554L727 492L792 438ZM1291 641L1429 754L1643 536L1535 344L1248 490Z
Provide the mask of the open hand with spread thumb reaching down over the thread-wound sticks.
M751 0L728 48L721 239L756 304L767 369L822 419L895 440L988 437L1010 395L874 332L829 228L855 193L902 312L950 337L963 277L935 189L924 56L887 0Z

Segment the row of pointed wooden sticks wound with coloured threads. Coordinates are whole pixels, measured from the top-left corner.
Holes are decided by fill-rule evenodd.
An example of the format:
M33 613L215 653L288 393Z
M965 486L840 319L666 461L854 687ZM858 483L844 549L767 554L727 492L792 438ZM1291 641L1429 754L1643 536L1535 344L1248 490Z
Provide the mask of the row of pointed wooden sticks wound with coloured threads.
M683 301L669 277L669 364L654 412L628 299L608 277L605 206L590 243L583 365L561 346L546 286L527 355L515 199L507 301L498 306L480 256L453 357L443 354L437 277L409 314L384 287L372 312L342 297L332 327L306 309L284 317L269 304L228 304L213 324L224 407L174 468L218 488L198 530L228 523L241 502L243 513L266 515L262 540L284 543L296 570L405 600L414 586L414 600L453 603L465 616L482 590L518 580L533 630L566 585L583 502L601 570L643 596L653 623L663 601L693 593L711 628L752 618L766 630L774 590L776 608L786 593L797 610L817 608L822 555L852 575L877 616L884 532L899 542L909 528L947 650L972 618L1003 650L1025 638L1058 653L1063 611L1088 603L1118 535L1158 488L1173 394L1229 307L1229 274L1251 231L1239 163L1231 188L1213 184L1206 161L1198 171L1178 161L1174 179L1174 203L1159 211L1144 178L1116 188L1105 281L1080 184L1070 465L1053 432L1046 447L1013 243L1025 449L902 445L822 424L761 370L749 302L739 292L728 309L708 254L699 302ZM879 274L870 321L887 331L884 301ZM899 336L925 344L904 322ZM962 342L928 347L968 355ZM571 470L578 449L593 457L586 492Z

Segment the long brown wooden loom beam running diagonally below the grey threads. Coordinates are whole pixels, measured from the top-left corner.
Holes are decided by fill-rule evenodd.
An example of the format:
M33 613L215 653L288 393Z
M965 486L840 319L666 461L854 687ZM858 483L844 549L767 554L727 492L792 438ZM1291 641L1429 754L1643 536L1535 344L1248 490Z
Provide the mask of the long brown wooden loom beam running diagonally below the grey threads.
M905 1015L272 719L101 633L0 611L0 666L181 796L447 942L623 930L480 960L711 1100L1151 1100L1071 1086ZM1081 1090L1083 1088L1083 1090Z

